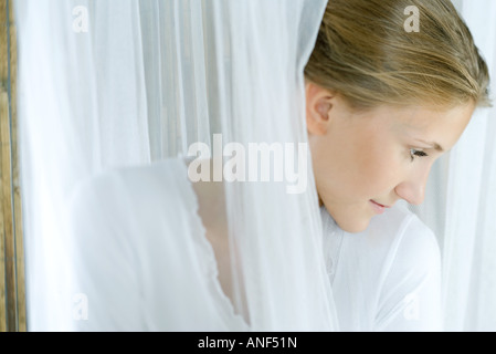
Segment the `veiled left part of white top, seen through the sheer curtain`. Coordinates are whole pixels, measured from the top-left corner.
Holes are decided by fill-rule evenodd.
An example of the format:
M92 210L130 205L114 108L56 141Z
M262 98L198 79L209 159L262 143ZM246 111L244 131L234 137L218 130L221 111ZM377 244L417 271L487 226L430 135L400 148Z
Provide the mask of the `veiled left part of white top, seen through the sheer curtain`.
M180 159L93 177L70 215L76 331L246 331L218 280ZM157 216L161 216L157 218Z

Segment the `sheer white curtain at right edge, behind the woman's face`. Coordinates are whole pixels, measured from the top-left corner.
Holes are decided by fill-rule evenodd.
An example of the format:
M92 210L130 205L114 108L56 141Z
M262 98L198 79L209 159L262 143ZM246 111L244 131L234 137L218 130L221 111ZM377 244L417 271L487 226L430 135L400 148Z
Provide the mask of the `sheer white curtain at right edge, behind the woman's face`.
M496 2L453 1L489 66L496 92ZM414 208L443 252L448 331L496 331L496 110L478 110L450 155L435 166L425 204Z

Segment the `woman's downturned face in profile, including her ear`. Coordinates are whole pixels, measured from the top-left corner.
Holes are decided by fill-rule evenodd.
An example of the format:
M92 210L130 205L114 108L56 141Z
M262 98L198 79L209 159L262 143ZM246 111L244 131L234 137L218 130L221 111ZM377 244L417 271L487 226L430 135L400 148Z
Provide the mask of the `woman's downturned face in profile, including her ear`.
M348 232L399 199L420 205L433 163L453 147L475 106L380 106L353 112L339 95L308 83L307 128L318 195Z

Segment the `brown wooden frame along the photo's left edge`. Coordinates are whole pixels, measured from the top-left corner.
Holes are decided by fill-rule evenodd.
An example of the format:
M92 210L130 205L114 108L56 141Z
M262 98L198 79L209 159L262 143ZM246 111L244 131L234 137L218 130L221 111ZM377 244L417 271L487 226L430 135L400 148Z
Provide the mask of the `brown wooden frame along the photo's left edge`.
M0 1L0 332L27 331L13 2Z

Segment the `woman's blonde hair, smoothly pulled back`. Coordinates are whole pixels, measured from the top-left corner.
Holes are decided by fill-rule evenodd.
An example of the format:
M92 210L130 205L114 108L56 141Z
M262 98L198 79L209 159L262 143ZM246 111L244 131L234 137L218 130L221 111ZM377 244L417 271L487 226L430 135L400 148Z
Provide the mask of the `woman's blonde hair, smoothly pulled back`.
M407 32L415 6L419 32ZM306 80L356 108L490 106L489 74L450 0L329 0Z

